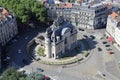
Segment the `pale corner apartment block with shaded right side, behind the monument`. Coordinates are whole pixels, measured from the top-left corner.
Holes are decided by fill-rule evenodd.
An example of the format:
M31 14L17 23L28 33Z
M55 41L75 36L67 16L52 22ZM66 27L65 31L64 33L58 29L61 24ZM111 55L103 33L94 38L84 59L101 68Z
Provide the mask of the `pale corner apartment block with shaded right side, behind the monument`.
M71 12L71 21L78 28L83 29L98 29L106 26L107 15L106 7L102 3L88 5L83 4Z

